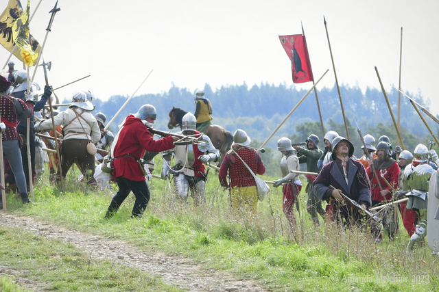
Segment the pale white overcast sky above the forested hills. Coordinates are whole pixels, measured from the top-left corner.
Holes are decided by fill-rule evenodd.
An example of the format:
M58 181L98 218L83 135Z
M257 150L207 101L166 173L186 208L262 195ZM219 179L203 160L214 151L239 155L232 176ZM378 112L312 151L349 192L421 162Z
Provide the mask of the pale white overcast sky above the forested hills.
M31 1L31 14L38 2ZM291 66L278 36L301 34L300 23L314 79L330 69L317 87L332 88L325 17L340 85L363 91L380 88L375 66L386 91L390 84L398 87L402 27L401 88L429 98L431 111L439 114L439 1L59 0L61 10L47 34L55 2L43 0L30 23L41 44L47 36L43 56L51 62L49 83L57 88L91 75L57 90L61 99L78 90L90 90L104 101L130 96L151 70L135 95L166 92L172 85L195 92L205 83L214 91L244 82L249 88L290 86ZM0 66L8 57L0 47ZM18 59L12 60L22 68ZM42 67L35 81L45 83Z

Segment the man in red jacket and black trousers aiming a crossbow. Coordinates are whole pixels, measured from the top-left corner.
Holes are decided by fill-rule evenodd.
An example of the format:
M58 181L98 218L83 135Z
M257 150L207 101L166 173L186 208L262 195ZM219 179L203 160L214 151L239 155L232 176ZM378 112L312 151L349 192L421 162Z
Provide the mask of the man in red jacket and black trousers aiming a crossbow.
M128 116L117 132L111 146L112 173L117 180L119 191L111 200L106 218L112 217L130 191L136 196L132 217L141 217L150 201L150 189L145 181L145 175L139 166L139 159L145 151L160 152L174 148L177 137L169 136L161 140L154 140L148 127L152 127L156 120L157 111L152 105L142 105L136 114ZM142 165L143 167L143 165Z

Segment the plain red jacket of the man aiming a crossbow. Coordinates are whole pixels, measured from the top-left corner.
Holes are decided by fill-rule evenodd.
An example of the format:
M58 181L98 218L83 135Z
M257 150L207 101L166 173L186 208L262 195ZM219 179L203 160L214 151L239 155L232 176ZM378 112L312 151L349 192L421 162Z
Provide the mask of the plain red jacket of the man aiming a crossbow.
M119 133L119 139L115 145L115 160L112 167L115 168L113 176L128 178L130 181L145 181L137 161L145 155L145 151L160 152L174 148L172 137L154 140L150 131L141 119L130 115L126 118L123 129ZM122 157L130 155L132 157ZM117 158L120 157L120 158Z

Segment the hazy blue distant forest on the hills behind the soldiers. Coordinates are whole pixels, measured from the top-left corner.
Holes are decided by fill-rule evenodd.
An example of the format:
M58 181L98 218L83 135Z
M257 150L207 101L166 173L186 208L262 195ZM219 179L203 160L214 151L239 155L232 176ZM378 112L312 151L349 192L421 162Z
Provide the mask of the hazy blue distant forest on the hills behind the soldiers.
M311 87L311 85L310 85ZM383 92L376 88L367 88L361 92L357 87L342 85L340 88L344 111L348 124L350 124L349 135L351 140L357 141L357 131L354 118L359 125L362 134L370 133L376 137L385 134L389 135L392 143L396 142L396 133L392 124L388 105L385 102ZM211 86L204 85L205 97L209 98L213 108L213 123L220 124L228 131L234 132L237 129L244 129L252 140L257 140L259 145L276 129L278 124L289 114L294 106L300 101L307 90L298 90L285 84L270 85L261 83L248 88L246 83L242 85L229 85L217 88L215 92ZM390 101L395 119L398 114L398 92L391 90L386 92ZM408 93L415 101L429 108L430 102L420 94ZM157 109L157 120L155 128L167 130L169 118L167 114L172 107L182 107L186 111L195 111L195 94L186 88L172 86L169 91L161 94L143 94L135 96L123 109L121 114L112 123L110 129L115 131L117 124L130 113L135 113L141 105L150 103ZM128 96L111 96L108 101L96 101L95 113L102 111L107 116L107 122L114 116L126 101ZM322 88L318 90L318 99L325 131L338 130L337 132L346 137L344 129L340 98L337 87ZM438 133L438 125L425 118L434 131ZM351 128L352 127L352 128ZM355 128L353 128L355 127ZM429 135L427 128L420 120L418 114L412 107L408 98L401 94L401 132L404 133L403 140L411 140L410 146L427 139ZM178 129L179 130L179 129ZM303 142L307 135L313 132L322 141L322 130L316 104L316 96L311 92L300 106L289 117L283 127L272 137L268 147L276 149L276 142L281 137L291 137L293 142ZM409 137L410 136L410 137ZM359 141L359 140L358 140ZM323 143L320 142L320 148ZM359 148L359 144L354 144ZM416 145L415 145L416 146ZM414 147L414 146L413 146ZM413 148L409 148L413 151ZM357 151L356 151L357 153Z

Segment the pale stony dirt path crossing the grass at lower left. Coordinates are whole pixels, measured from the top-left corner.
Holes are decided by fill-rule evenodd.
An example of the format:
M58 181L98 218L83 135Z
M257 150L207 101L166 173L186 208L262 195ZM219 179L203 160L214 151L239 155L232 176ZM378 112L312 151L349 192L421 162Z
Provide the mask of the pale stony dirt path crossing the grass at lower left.
M91 258L117 261L122 265L141 269L152 275L161 276L162 280L187 291L237 291L262 292L256 282L240 279L219 271L206 271L198 265L191 265L190 259L183 256L167 256L160 252L138 250L124 241L106 239L104 237L79 233L61 226L38 222L32 217L18 217L0 211L0 225L23 230L47 238L59 239L80 248ZM12 274L10 267L0 263L0 275ZM11 276L11 275L10 275ZM16 276L16 280L29 290L46 291L45 283L33 282Z

